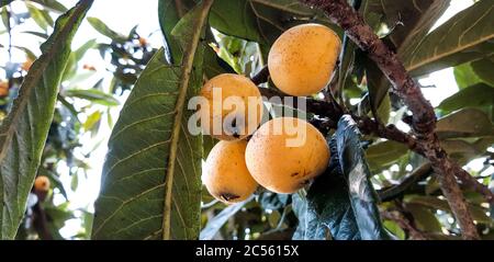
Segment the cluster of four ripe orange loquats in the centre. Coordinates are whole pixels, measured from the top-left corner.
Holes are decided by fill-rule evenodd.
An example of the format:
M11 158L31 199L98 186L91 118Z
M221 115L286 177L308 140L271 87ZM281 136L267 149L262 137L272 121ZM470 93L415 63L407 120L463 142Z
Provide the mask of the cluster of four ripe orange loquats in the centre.
M330 81L340 45L337 34L324 25L303 24L285 31L268 56L273 83L293 96L319 92ZM214 88L221 89L221 98L213 96ZM209 117L212 123L216 117L225 117L236 111L236 117L255 122L249 124L256 127L261 124L262 106L256 111L255 117L248 117L247 98L261 100L261 94L256 84L244 76L220 75L203 86L201 95L210 107L229 96L239 98L245 105L244 110L222 109L221 114L206 111L207 115L201 115L202 119ZM276 132L280 126L281 132ZM300 118L273 118L262 124L254 135L249 134L247 125L236 126L236 130L223 127L221 134L214 134L212 126L207 128L207 134L221 141L207 156L202 179L210 194L226 204L248 198L258 185L276 193L294 193L322 174L329 161L329 148L324 136ZM296 147L287 144L293 129L305 134L304 143ZM250 135L247 141L245 138Z

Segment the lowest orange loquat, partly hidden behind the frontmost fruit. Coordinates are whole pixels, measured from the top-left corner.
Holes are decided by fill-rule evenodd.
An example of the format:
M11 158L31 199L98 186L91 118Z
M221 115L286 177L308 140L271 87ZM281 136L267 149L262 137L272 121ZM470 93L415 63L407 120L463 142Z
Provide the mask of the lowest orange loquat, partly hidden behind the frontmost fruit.
M247 200L258 184L245 163L245 140L217 143L205 162L202 181L216 200L232 204Z

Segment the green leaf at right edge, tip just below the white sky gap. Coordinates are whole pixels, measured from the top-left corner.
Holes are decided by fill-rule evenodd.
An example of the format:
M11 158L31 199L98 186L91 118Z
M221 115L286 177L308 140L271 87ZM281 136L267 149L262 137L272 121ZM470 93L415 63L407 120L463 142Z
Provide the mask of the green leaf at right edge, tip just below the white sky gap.
M494 105L494 88L478 83L447 98L437 109L449 113L464 107L482 109L490 105Z

